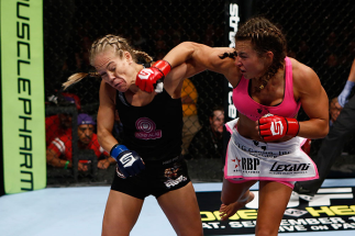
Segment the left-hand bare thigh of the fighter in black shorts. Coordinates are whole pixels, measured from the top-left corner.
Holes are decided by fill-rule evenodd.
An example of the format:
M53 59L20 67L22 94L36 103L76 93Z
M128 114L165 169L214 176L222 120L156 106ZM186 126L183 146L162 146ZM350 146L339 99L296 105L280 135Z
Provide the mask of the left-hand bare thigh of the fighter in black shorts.
M102 236L130 235L142 210L143 200L111 190L102 221Z

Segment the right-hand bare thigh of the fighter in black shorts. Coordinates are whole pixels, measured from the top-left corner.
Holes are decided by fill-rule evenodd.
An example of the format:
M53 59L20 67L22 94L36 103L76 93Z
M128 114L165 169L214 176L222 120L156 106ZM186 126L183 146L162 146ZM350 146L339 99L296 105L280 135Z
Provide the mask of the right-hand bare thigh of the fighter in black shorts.
M157 200L177 235L203 235L200 210L191 182Z

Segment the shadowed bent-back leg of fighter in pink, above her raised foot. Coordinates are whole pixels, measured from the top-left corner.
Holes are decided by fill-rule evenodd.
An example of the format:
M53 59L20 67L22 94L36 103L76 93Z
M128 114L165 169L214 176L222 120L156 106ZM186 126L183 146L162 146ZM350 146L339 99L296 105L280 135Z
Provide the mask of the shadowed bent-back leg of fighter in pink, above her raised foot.
M237 201L243 194L256 183L256 180L241 181L240 183L230 182L223 178L221 201L224 204L230 204Z

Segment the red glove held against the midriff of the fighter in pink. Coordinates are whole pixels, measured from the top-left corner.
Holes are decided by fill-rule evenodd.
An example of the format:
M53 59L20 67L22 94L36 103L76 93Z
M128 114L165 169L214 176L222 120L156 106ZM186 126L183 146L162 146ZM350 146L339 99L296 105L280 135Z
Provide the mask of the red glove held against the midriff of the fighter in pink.
M284 136L297 136L300 124L296 119L268 115L258 120L258 128L264 141L277 141Z

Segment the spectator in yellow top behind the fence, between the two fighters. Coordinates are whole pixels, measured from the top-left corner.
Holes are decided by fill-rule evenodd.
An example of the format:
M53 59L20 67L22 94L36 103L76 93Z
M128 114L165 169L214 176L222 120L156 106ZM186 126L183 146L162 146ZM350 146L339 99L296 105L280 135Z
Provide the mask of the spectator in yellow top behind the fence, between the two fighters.
M197 115L198 93L191 80L185 79L181 89L181 102L182 102L182 155L189 156L190 143L198 131L201 130L199 117Z

